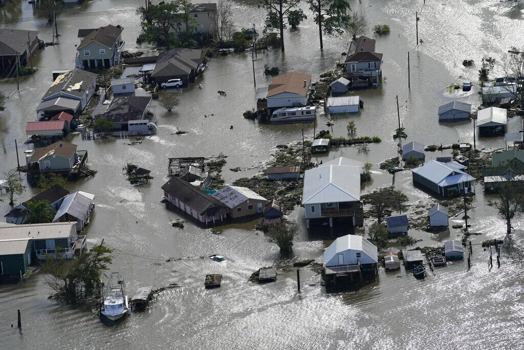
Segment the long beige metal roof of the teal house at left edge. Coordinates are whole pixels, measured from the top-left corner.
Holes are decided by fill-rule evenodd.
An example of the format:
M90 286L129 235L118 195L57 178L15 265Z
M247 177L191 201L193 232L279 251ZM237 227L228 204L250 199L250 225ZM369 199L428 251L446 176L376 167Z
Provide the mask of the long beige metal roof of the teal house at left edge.
M67 238L71 236L71 227L75 227L76 222L53 222L51 224L29 224L0 226L0 239L54 239ZM73 232L77 229L74 228Z

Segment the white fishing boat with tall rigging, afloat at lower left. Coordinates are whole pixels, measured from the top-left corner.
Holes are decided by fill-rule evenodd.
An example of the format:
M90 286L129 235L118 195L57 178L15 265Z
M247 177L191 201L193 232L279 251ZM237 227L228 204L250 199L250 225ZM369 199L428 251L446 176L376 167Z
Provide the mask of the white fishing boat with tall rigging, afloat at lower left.
M127 302L126 284L119 272L112 272L107 285L102 283L102 308L101 317L111 321L122 319L131 313Z

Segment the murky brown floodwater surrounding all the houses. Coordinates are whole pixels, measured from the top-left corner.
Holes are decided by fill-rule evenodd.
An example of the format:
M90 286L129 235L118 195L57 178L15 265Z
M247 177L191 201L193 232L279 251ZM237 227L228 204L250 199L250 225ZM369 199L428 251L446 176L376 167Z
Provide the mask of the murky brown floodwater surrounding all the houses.
M338 156L356 158L375 164L373 183L364 190L391 184L392 176L380 171L378 163L396 155L396 141L391 139L397 125L398 95L407 141L424 144L450 144L473 141L472 123L449 126L438 123L438 106L459 98L479 104L478 89L470 93L446 93L446 86L462 78L476 80L478 64L487 54L497 60L495 73L501 73L500 60L512 45L521 47L522 3L490 1L431 2L414 1L350 2L353 9L366 10L369 22L389 24L391 34L377 38L377 51L384 53L384 81L380 88L359 92L365 109L356 116L335 120L334 134L345 135L347 120L354 120L358 135L377 135L383 140L369 146L368 154L358 154L354 147L331 151L316 160ZM26 145L25 122L33 120L35 108L51 83L53 69L74 64L77 29L107 23L125 27L127 49L134 49L139 34L139 20L134 8L141 1L89 1L69 9L58 20L60 45L47 47L34 60L35 75L23 78L20 91L16 81L3 81L9 90L6 110L0 114L0 153L2 172L16 167L14 140L19 141L19 155ZM260 29L264 15L255 1L233 2L238 27ZM303 5L305 8L305 5ZM419 12L419 36L423 43L415 47L415 12ZM91 13L85 15L86 13ZM81 15L82 14L82 15ZM307 11L308 15L311 15ZM32 19L29 4L16 2L3 10L4 27L36 29L45 41L51 41L52 29L42 20ZM311 18L311 17L310 17ZM286 30L286 52L270 50L259 53L255 62L257 86L270 79L263 75L264 63L278 66L282 72L311 73L313 79L333 67L341 52L347 51L348 38L324 37L324 52L318 49L318 29L311 19L296 31ZM370 35L371 33L368 33ZM407 52L411 59L411 89L408 90ZM464 68L464 59L474 59L476 66ZM524 268L524 237L521 218L514 220L517 233L501 251L501 267L488 272L488 252L474 246L472 268L465 262L453 262L425 281L415 280L403 268L386 273L379 269L377 282L358 292L326 294L319 275L302 271L302 291L297 292L294 271L279 272L276 283L258 285L247 281L262 266L297 259L322 261L324 242L303 227L303 212L297 208L290 215L302 230L291 257L281 257L275 245L253 230L254 223L230 225L218 230L171 227L177 214L160 203L160 186L166 181L167 158L172 156L227 155L223 176L226 182L252 176L268 160L275 146L298 141L304 133L311 137L312 125L270 126L245 120L242 113L254 107L252 62L250 54L215 57L210 60L205 77L180 93L180 106L169 114L157 108L159 131L143 143L128 145L128 139L73 142L89 151L90 167L99 173L68 188L96 195L91 224L84 233L88 245L100 243L114 248L113 271L127 280L129 293L137 287L163 287L176 282L182 287L167 289L143 313L133 313L118 326L108 327L90 310L70 309L47 300L50 294L45 276L36 274L25 282L0 287L0 343L3 348L522 348L524 290L520 271ZM219 97L216 91L226 91ZM213 115L211 115L213 114ZM208 117L205 118L204 115ZM320 116L318 125L324 125ZM520 120L511 121L518 128ZM230 130L230 125L234 126ZM186 135L175 135L178 130ZM478 148L504 147L501 137L478 139ZM449 153L443 153L449 155ZM441 153L428 153L427 158ZM150 185L130 186L122 166L132 161L152 170ZM241 167L240 173L229 171ZM409 172L397 174L395 185L402 188L410 203L425 203L430 197L413 187ZM504 238L505 224L487 207L482 186L476 186L472 230L474 243L486 238ZM32 190L17 198L26 200ZM7 213L6 196L0 213ZM452 219L453 223L461 222ZM457 237L459 232L431 235L410 232L422 239L419 245L436 245ZM226 264L200 259L213 253L228 257ZM168 258L183 258L166 262ZM222 287L204 290L206 273L222 273ZM22 314L23 329L18 331L16 310Z

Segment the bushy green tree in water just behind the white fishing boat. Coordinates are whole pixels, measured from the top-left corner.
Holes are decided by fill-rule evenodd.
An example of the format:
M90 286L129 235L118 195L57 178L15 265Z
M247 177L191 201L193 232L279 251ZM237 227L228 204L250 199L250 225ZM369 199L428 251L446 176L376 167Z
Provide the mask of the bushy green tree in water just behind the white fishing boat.
M102 273L112 262L113 250L95 246L71 261L63 257L48 258L42 271L48 273L46 284L57 292L58 299L72 304L82 303L98 290Z

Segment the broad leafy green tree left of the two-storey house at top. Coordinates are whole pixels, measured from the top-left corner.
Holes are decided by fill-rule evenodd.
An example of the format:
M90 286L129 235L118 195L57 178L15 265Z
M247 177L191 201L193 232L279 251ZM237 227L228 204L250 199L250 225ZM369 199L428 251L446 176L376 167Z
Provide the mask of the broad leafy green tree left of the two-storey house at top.
M137 42L155 43L168 50L174 42L173 20L179 11L178 3L160 2L158 5L150 4L146 10L141 6L137 9L137 14L142 21L142 34Z

